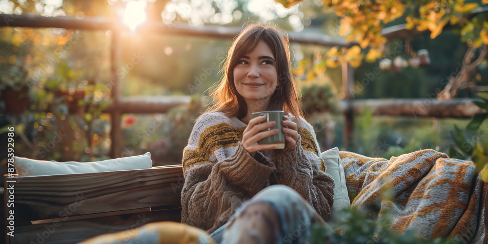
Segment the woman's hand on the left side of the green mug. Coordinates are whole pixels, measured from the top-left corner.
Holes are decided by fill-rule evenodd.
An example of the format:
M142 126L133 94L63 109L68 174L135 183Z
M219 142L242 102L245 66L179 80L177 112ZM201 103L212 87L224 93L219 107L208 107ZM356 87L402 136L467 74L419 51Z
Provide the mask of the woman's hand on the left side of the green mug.
M266 119L266 116L259 116L249 121L247 128L245 128L243 133L242 145L244 149L252 156L256 154L257 151L275 149L276 144L258 144L258 141L278 134L278 129L272 129L263 131L275 125L276 122L270 121L261 123Z

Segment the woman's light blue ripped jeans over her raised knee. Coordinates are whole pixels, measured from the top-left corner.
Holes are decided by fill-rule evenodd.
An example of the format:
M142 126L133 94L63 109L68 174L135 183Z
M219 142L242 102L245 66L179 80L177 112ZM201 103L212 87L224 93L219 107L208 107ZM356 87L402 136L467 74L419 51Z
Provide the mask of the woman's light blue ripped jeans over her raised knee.
M285 185L272 185L264 188L253 198L243 203L230 217L226 224L215 230L210 236L217 244L222 244L225 227L246 206L251 203L269 203L280 216L280 233L277 244L309 243L312 224L325 224L324 220L295 190Z

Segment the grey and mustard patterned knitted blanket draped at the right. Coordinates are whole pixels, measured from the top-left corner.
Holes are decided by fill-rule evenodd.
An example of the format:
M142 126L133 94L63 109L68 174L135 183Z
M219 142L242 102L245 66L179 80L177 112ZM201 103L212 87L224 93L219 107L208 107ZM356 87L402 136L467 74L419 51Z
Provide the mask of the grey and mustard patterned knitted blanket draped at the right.
M392 230L413 230L426 240L488 242L484 219L488 183L475 174L472 162L448 159L430 149L390 160L352 152L339 155L352 206L380 218L386 210Z

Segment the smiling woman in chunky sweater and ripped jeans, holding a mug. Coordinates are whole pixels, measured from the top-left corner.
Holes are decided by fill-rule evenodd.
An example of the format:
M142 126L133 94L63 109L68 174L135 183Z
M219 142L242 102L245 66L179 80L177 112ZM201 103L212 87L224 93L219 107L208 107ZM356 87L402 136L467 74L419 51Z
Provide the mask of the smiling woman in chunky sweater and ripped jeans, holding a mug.
M182 223L217 243L302 243L311 224L330 216L334 182L303 119L288 45L272 26L253 24L239 34L214 105L183 151ZM285 111L285 149L258 144L278 133L261 132L275 122L251 119L265 110Z

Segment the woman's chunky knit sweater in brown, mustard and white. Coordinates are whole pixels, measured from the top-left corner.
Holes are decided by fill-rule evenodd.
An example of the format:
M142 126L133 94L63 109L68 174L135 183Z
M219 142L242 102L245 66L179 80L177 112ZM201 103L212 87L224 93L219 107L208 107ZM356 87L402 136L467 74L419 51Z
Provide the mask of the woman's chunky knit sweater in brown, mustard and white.
M334 181L325 174L312 126L301 121L294 147L252 157L241 144L247 124L221 112L200 117L183 151L182 223L213 232L242 203L272 184L293 188L328 219Z

